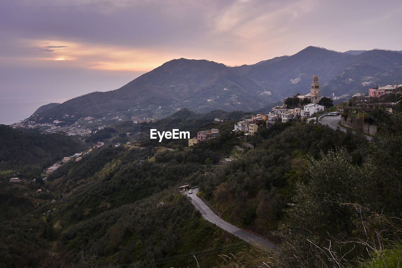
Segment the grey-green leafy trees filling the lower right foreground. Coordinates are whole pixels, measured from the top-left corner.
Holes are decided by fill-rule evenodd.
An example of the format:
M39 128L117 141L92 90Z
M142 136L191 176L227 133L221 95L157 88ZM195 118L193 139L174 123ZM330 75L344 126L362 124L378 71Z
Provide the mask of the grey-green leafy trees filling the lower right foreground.
M297 185L287 216L281 246L286 267L333 267L339 260L367 258L374 244L400 243L400 231L390 230L401 228L401 127L394 117L388 129L361 145L361 165L345 149L310 159L310 181Z

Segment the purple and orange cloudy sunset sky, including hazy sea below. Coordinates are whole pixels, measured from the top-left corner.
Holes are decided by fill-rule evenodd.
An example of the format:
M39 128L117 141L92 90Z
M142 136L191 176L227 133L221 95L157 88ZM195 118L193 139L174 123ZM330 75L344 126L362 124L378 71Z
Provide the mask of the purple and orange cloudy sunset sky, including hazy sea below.
M228 66L312 45L402 50L401 0L2 0L0 124L172 59Z

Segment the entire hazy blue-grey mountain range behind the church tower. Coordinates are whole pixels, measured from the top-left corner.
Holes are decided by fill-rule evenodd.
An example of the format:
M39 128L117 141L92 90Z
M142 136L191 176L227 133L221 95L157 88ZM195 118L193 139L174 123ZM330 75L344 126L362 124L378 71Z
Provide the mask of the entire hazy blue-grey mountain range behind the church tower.
M75 118L161 118L185 107L196 112L255 111L296 93L308 93L314 74L319 77L321 95L332 97L401 82L401 68L402 54L394 51L341 53L312 46L292 56L237 67L180 58L120 89L71 99L31 120L66 114Z

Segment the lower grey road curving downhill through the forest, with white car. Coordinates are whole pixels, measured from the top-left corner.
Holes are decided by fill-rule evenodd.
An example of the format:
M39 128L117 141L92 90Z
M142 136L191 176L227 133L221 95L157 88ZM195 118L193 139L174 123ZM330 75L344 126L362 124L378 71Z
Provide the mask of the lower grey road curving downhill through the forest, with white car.
M273 243L268 242L267 240L260 238L256 235L253 235L252 233L249 233L247 231L244 231L234 225L231 225L230 223L222 220L218 216L215 215L215 213L212 212L212 210L201 200L199 197L196 195L198 192L198 188L193 189L193 193L189 194L189 191L185 192L185 195L191 197L191 203L195 206L199 212L201 212L201 215L203 216L204 219L209 221L210 223L213 223L217 225L218 227L228 231L229 233L232 233L236 235L237 237L240 237L244 241L247 241L248 243L251 243L253 245L256 245L258 247L269 247L269 248L275 248L279 249L276 245Z

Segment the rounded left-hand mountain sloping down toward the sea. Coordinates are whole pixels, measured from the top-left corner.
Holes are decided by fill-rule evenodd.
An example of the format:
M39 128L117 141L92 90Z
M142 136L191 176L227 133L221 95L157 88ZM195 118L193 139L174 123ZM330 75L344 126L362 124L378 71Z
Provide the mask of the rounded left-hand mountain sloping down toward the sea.
M62 118L65 114L104 117L109 113L128 119L166 116L188 107L197 112L263 107L271 97L256 80L239 69L207 60L178 59L139 76L109 92L94 92L44 111L38 118ZM160 108L159 108L160 106Z

